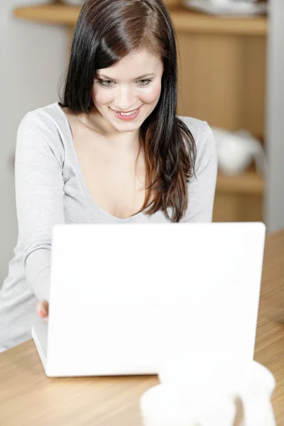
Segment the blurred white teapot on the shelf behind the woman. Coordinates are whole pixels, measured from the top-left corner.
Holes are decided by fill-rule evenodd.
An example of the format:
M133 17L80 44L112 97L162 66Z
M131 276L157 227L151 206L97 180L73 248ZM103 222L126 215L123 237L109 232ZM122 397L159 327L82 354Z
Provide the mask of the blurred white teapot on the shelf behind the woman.
M237 175L254 162L256 170L263 177L266 175L266 155L260 141L249 131L226 131L213 127L217 144L218 166L225 175Z

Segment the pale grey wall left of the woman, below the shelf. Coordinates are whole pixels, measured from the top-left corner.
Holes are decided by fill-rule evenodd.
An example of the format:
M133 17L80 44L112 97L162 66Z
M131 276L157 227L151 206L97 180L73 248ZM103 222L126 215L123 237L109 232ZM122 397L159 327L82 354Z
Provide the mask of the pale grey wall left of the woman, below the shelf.
M18 231L13 178L18 124L28 111L58 100L66 66L64 28L17 21L12 9L21 4L27 0L0 6L0 288Z

